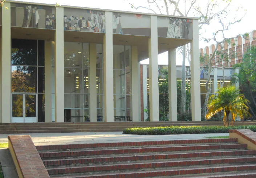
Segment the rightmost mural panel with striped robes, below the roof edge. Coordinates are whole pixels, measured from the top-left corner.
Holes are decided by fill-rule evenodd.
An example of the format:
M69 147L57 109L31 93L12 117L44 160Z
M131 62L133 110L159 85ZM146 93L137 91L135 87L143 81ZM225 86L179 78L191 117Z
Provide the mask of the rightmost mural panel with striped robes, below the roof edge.
M158 37L192 39L192 19L158 17Z

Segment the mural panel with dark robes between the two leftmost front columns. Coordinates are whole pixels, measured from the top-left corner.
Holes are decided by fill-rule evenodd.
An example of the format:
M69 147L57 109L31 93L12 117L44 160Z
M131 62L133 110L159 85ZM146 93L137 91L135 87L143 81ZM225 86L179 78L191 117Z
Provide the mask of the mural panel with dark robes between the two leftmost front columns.
M11 26L56 29L56 8L11 3Z

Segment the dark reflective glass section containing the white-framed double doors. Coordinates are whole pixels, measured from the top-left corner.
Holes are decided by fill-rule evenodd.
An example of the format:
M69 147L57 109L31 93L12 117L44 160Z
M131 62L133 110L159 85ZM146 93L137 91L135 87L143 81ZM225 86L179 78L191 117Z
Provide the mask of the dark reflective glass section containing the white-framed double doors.
M12 39L12 122L44 122L44 41Z

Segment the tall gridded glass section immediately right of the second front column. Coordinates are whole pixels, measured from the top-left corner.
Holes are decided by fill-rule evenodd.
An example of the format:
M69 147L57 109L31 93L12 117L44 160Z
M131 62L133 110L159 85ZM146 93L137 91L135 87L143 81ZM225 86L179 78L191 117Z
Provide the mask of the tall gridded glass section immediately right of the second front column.
M64 42L64 109L66 122L90 121L89 51L88 43Z

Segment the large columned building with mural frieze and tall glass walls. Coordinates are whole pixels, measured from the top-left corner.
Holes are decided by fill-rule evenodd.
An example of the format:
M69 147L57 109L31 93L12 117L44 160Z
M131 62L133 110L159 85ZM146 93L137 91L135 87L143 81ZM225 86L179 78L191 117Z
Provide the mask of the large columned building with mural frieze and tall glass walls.
M0 12L0 122L140 121L139 61L149 58L150 120L159 120L158 54L191 43L192 120L200 120L198 19L7 1Z

